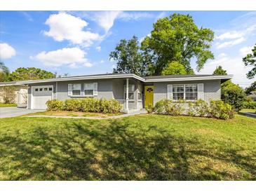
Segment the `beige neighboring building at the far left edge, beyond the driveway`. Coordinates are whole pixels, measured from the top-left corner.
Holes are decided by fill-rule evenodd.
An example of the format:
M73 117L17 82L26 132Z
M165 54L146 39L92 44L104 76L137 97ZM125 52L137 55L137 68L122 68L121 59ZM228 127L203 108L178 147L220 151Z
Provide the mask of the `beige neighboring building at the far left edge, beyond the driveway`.
M3 95L5 95L5 87L8 86L14 88L15 104L18 107L27 107L27 86L15 81L0 82L0 102L4 102Z

